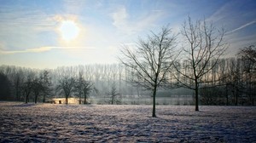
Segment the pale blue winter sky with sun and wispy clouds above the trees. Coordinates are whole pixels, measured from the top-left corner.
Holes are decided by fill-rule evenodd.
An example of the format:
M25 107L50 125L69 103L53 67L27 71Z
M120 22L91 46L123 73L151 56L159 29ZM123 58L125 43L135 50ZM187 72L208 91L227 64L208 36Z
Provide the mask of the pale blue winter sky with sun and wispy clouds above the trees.
M0 0L0 65L116 63L121 45L188 15L225 26L229 54L256 44L255 0Z

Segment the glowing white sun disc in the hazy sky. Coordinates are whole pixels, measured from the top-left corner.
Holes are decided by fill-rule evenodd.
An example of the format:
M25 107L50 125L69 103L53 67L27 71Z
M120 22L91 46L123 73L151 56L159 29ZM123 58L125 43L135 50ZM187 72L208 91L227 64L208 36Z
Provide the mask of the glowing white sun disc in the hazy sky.
M65 41L72 41L79 36L79 26L73 20L63 20L61 21L61 26L59 27L61 31L61 37Z

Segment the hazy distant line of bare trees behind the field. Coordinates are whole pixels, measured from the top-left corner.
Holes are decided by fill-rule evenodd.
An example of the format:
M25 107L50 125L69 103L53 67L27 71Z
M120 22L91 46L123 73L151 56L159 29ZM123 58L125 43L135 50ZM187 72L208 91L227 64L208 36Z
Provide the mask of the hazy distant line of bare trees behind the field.
M202 77L212 82L200 85L201 105L255 105L255 61L246 59L244 55L237 54L236 58L219 60L211 72ZM186 67L187 61L179 64ZM184 70L191 72L191 69ZM172 80L169 81L168 88L160 89L157 97L193 97L193 92L189 89L180 88L177 78L172 78L173 73L175 77L180 77L178 72L170 73ZM151 95L141 87L132 86L131 81L128 82L128 78L135 76L120 64L62 66L44 70L0 66L0 100L49 102L57 97L78 97L79 103L86 104L90 97L99 97L102 99L99 104L125 104L125 100L122 100L124 96L144 98Z

